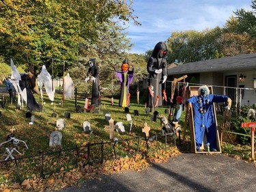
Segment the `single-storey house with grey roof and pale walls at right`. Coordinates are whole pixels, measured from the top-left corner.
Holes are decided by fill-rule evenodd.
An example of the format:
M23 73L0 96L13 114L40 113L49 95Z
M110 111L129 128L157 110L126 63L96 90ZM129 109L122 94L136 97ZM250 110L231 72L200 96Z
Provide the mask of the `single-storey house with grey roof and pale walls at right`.
M215 94L227 95L241 106L256 103L256 53L184 63L168 69L168 76L195 78L212 86Z

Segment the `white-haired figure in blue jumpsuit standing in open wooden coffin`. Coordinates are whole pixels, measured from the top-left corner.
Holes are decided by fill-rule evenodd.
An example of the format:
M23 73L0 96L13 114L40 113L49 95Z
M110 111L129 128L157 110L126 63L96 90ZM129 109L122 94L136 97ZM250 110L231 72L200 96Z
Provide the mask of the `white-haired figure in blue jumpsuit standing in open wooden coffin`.
M231 99L225 95L210 94L208 86L199 87L198 94L198 96L186 100L186 103L191 103L193 106L197 151L201 150L204 134L210 143L210 150L216 151L216 122L213 103L227 101L227 108L230 109Z

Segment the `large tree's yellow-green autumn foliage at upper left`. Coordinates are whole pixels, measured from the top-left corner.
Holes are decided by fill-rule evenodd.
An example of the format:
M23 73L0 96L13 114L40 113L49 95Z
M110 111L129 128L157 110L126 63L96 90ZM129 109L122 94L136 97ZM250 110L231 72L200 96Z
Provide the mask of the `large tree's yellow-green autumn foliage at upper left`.
M16 63L50 67L55 61L66 61L66 67L83 58L91 45L98 52L104 27L119 22L134 21L132 2L121 0L38 0L0 1L0 48L1 55L8 62L16 57ZM117 44L118 50L119 45ZM43 56L43 57L42 57ZM82 54L83 56L83 54ZM55 74L62 67L55 62Z

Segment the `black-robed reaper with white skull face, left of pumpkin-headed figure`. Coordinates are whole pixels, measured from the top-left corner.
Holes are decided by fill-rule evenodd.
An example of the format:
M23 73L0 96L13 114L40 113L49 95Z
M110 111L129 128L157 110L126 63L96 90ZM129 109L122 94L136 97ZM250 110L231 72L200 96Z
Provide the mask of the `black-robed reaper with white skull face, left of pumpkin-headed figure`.
M99 68L95 63L96 59L90 59L88 61L89 69L87 71L87 78L85 78L85 82L87 82L89 78L89 74L91 74L91 82L92 82L92 91L91 91L91 105L100 105L100 91L99 91L99 78L98 72Z

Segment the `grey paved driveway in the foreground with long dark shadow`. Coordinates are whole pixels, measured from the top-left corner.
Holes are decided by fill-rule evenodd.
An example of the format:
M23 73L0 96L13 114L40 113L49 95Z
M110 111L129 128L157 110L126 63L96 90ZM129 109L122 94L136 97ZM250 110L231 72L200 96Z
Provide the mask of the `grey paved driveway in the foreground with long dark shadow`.
M225 155L183 153L141 172L126 171L87 180L73 191L255 191L253 163Z

